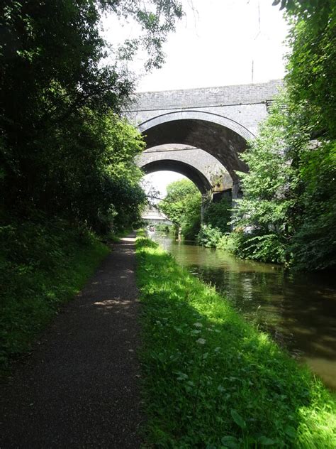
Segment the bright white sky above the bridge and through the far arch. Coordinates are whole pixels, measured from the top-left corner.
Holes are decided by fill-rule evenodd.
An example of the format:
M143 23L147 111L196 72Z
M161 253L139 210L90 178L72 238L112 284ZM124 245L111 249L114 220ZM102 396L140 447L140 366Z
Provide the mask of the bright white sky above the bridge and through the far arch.
M186 14L164 45L164 66L145 74L141 55L130 65L139 77L138 92L284 77L288 28L279 6L271 6L271 0L182 0L182 4ZM134 23L120 26L112 17L104 19L103 28L103 36L111 43L139 32ZM176 178L181 175L158 172L146 176L162 195L169 180Z

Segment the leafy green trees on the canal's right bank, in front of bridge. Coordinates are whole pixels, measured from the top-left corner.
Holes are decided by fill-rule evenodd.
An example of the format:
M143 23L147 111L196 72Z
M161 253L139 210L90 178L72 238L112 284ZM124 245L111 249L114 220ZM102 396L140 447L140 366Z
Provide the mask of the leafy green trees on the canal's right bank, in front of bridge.
M231 240L240 256L325 269L336 264L336 5L280 3L291 23L286 94L242 156L250 173Z

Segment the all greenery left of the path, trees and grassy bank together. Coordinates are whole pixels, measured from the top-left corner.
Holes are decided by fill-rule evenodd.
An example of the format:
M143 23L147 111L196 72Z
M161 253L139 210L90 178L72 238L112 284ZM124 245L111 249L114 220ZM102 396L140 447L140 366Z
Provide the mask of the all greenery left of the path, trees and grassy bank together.
M120 48L103 13L142 33ZM174 0L4 0L0 6L0 334L2 361L20 354L82 286L108 235L140 218L133 163L144 144L121 117L135 87L125 60L162 43L181 17Z

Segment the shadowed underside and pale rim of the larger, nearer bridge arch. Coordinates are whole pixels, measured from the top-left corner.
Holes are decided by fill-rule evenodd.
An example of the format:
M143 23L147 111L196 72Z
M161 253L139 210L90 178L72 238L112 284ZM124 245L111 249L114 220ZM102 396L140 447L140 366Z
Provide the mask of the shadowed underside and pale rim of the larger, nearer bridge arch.
M235 171L247 172L240 159L247 140L254 136L237 122L216 114L203 112L174 112L147 120L139 126L147 148L164 144L185 144L201 148L218 159L233 181Z

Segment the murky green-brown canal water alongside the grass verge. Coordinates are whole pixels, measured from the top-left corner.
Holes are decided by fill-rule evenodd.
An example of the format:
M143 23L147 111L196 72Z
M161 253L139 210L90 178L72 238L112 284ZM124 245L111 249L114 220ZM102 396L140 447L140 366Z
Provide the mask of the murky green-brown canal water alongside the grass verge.
M151 237L336 391L335 277L289 274L281 266L240 260L220 249L156 233Z

